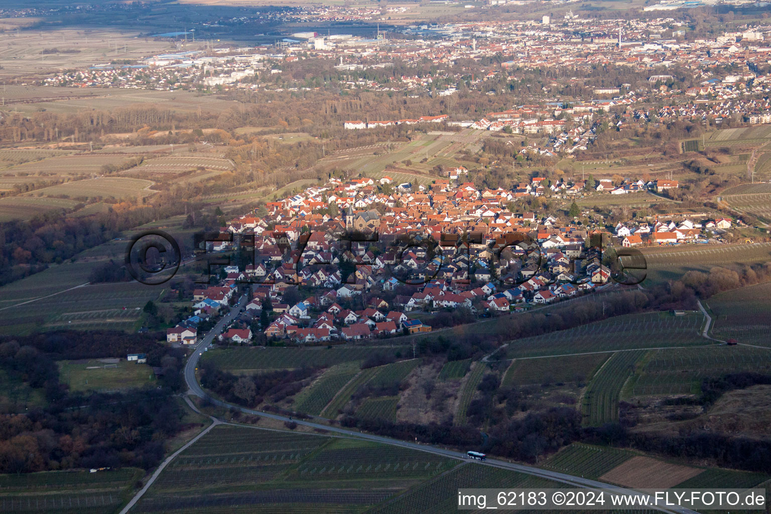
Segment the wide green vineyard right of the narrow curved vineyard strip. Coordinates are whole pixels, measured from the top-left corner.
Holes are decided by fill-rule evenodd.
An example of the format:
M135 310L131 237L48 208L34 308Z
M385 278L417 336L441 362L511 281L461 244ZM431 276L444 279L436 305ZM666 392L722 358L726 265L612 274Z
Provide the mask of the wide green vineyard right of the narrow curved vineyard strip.
M771 373L771 349L715 345L655 350L625 392L630 396L697 394L702 378L738 371Z

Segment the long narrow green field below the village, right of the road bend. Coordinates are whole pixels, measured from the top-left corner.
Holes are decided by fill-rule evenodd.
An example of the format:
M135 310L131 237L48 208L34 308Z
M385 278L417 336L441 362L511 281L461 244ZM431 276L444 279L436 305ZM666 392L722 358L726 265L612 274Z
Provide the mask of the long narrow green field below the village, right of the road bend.
M342 362L363 361L375 352L407 354L408 347L396 348L215 348L205 355L220 369L258 370L290 369L303 366L332 366Z

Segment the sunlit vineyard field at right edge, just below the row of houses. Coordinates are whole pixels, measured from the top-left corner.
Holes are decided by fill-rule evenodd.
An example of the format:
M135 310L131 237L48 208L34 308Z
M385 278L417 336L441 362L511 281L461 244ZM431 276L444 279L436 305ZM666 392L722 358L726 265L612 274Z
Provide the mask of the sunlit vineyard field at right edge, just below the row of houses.
M648 277L642 283L676 281L690 270L709 271L715 266L768 262L771 243L691 244L679 247L642 248Z

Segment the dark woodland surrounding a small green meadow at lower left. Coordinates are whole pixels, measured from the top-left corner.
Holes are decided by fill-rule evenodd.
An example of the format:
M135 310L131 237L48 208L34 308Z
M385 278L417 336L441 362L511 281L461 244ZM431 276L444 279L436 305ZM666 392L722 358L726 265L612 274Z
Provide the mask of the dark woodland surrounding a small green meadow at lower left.
M167 348L157 334L60 331L3 338L0 370L10 381L45 392L45 407L0 414L0 473L137 466L151 469L163 459L163 439L181 429L174 393L183 387L184 350ZM160 388L113 394L69 391L59 381L56 361L146 352L160 368Z

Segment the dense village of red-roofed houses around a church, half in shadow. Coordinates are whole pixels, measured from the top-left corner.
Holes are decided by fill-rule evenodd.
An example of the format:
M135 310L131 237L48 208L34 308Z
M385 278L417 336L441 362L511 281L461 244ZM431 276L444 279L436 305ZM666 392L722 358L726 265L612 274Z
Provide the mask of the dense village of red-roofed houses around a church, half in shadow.
M267 203L261 216L231 220L207 241L206 253L246 250L248 258L222 268L216 285L194 291L194 315L169 328L168 341L194 344L198 324L229 311L242 287L251 301L218 341L339 344L432 331L424 321L443 311L462 311L469 322L617 287L603 244L707 243L736 223L636 219L609 233L599 223L507 207L547 188L569 199L586 183L534 177L513 190L477 190L463 182L465 173L448 170L427 187L389 176L332 179ZM677 186L599 180L593 189L635 194Z

